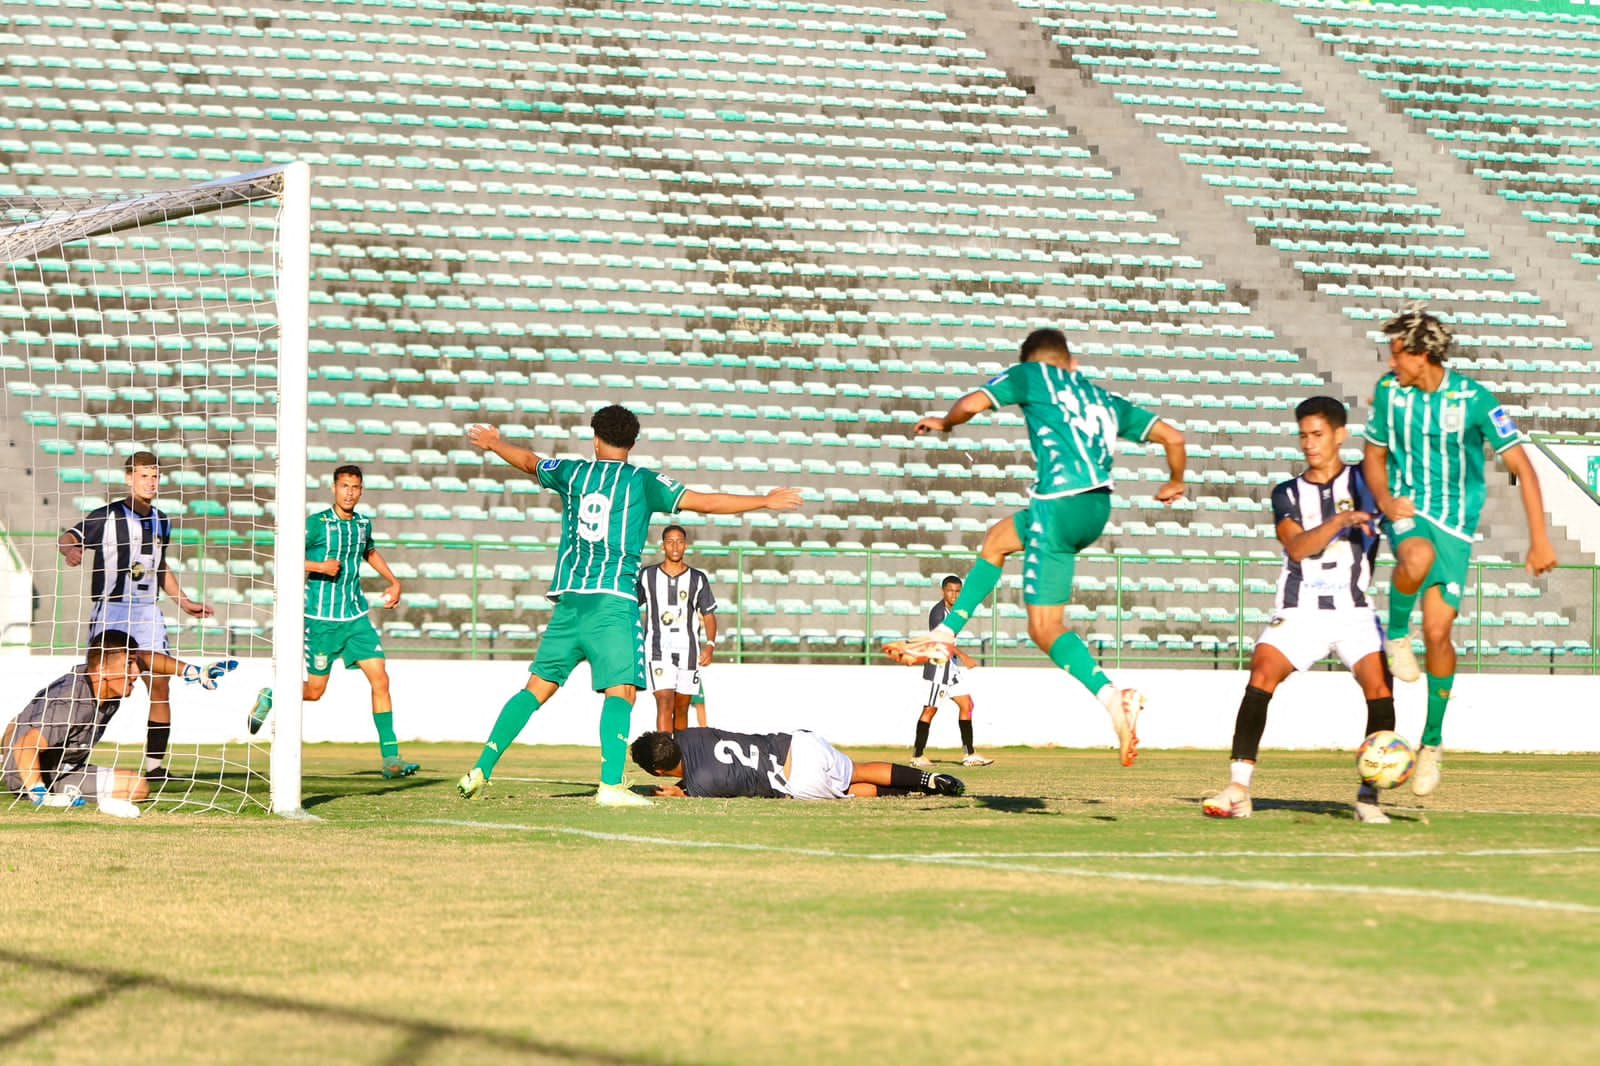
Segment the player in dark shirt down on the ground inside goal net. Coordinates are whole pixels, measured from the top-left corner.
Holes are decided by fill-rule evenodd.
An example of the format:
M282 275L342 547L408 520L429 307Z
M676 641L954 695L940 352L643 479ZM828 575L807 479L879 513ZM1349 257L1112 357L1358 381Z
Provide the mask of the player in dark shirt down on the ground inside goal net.
M90 640L82 664L42 688L0 735L6 789L35 807L82 807L94 800L117 818L138 818L150 794L142 773L96 767L94 744L139 683L138 645L109 629Z

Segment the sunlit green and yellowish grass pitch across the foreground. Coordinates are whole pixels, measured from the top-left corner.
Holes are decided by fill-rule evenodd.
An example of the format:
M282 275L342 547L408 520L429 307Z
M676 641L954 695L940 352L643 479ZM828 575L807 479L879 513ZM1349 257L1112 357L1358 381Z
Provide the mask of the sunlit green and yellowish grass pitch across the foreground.
M322 821L0 812L6 1063L1592 1063L1600 757L1010 749L958 800L598 810L307 749ZM853 752L902 757L902 752Z

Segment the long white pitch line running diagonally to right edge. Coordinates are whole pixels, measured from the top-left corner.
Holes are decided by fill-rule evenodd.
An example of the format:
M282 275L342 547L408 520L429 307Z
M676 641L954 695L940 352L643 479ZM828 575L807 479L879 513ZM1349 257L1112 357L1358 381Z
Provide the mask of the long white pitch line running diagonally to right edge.
M1520 911L1558 911L1566 914L1597 914L1600 906L1566 903L1562 900L1538 900L1526 896L1493 896L1478 892L1440 892L1434 888L1400 888L1390 885L1320 885L1293 880L1254 880L1235 877L1211 877L1200 874L1149 874L1134 871L1088 869L1082 866L1027 866L1022 863L995 863L979 858L952 858L906 853L859 853L827 848L789 848L771 844L739 844L728 840L677 840L672 837L646 837L632 832L600 832L573 829L570 826L523 826L515 823L467 821L459 818L424 818L411 824L451 826L456 829L501 829L507 832L549 832L552 836L608 840L616 844L642 844L646 847L701 848L720 852L760 852L768 855L794 855L800 858L854 860L861 863L912 863L920 866L962 866L1013 874L1048 874L1053 877L1078 877L1085 880L1123 880L1155 885L1182 885L1186 888L1248 888L1254 892L1286 892L1342 896L1390 896L1402 900L1432 900L1435 903L1475 903L1482 906L1514 908ZM1378 853L1381 855L1381 853Z

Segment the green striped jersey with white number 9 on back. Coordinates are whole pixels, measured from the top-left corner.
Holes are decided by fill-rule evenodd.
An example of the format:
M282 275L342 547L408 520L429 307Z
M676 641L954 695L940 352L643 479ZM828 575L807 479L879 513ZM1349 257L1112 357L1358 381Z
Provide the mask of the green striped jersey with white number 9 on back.
M562 496L550 599L605 592L635 602L650 519L677 511L688 490L666 474L616 459L546 459L539 485Z

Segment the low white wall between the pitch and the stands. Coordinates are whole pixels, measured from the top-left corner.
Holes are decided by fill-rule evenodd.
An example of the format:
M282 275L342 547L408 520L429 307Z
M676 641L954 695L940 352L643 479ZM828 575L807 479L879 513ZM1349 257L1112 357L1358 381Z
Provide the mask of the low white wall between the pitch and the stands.
M0 659L0 723L29 696L72 666L67 658ZM221 743L245 735L245 712L266 683L266 661L246 661L214 693L174 685L174 743ZM517 663L395 659L395 728L402 739L482 741L506 698L526 682ZM742 731L811 728L842 746L910 743L926 687L920 671L867 666L714 666L706 672L710 723ZM1139 727L1142 747L1221 747L1234 735L1234 711L1245 675L1237 671L1118 671L1120 683L1141 685L1150 709ZM971 674L981 747L1056 744L1109 747L1106 712L1050 669L992 667ZM1462 675L1446 725L1453 751L1600 751L1600 680L1594 677ZM112 722L109 739L138 743L142 693ZM371 741L366 685L336 671L322 703L307 704L306 739ZM1426 695L1402 685L1402 735L1416 739ZM523 743L594 744L598 696L587 667L534 715ZM654 706L642 696L634 733L653 728ZM1293 677L1267 722L1264 749L1354 749L1365 723L1360 690L1342 672ZM933 728L936 747L957 746L955 711L944 707Z

